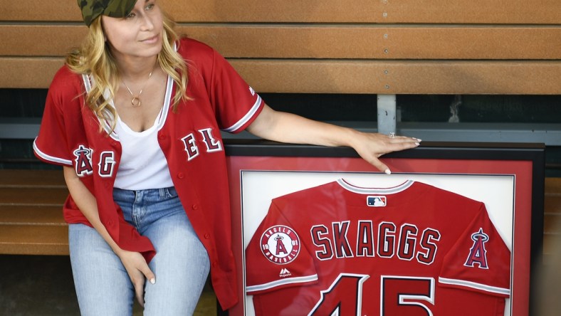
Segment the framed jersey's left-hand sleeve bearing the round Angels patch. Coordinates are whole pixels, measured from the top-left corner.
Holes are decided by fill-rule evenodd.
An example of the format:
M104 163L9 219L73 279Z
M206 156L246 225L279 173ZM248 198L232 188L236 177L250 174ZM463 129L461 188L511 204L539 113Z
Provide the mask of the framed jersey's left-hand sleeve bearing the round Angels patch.
M318 281L313 257L298 223L290 223L275 204L269 208L246 248L246 291L268 293Z

